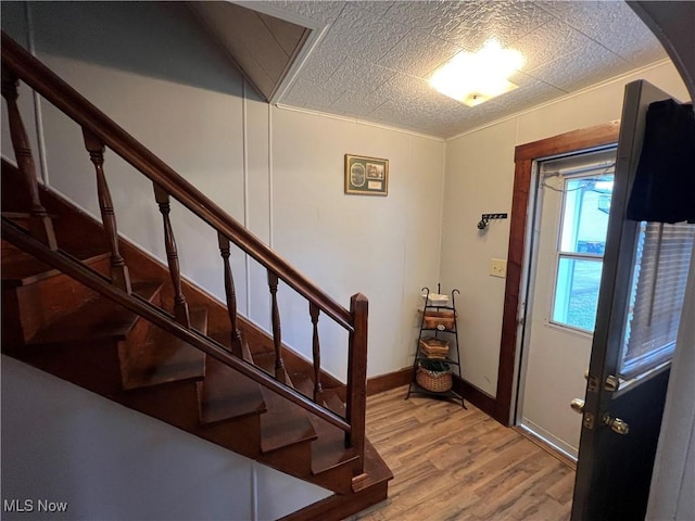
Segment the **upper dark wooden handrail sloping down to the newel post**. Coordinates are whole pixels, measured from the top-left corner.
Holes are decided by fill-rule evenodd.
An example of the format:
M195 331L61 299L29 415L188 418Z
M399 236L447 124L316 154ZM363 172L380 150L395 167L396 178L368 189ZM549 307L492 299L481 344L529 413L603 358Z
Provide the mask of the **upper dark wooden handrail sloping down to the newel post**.
M2 66L25 81L80 127L89 129L104 145L162 187L218 232L230 238L237 246L276 274L294 291L317 305L321 312L349 332L353 331L353 319L348 309L301 275L240 223L227 215L193 185L146 149L4 31L2 31Z

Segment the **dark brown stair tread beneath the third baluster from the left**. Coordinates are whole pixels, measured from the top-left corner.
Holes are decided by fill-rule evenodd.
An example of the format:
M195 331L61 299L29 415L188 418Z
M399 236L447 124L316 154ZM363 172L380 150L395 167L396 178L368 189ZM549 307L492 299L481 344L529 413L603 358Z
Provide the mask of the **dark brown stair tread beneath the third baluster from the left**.
M191 308L191 328L207 332L207 308ZM127 346L122 370L126 390L205 376L205 353L178 336L150 326L140 342Z

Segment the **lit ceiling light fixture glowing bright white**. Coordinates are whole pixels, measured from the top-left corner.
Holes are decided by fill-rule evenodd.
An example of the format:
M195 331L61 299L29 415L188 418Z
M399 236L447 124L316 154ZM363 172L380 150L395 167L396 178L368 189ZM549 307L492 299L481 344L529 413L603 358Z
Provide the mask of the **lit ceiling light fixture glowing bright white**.
M442 94L468 106L516 89L507 78L523 65L519 51L502 49L489 40L476 52L462 51L434 72L430 85Z

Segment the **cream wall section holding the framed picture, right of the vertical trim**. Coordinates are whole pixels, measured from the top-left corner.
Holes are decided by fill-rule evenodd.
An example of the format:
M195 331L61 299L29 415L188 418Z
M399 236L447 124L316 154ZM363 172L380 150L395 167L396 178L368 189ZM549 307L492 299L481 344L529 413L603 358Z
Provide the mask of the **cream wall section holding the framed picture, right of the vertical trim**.
M275 111L273 128L274 246L338 302L369 297L369 376L408 366L419 290L438 281L443 142L292 111ZM345 153L389 158L387 198L343 194ZM309 346L306 305L298 312L283 330ZM332 360L344 363L346 335L326 332L345 378Z

